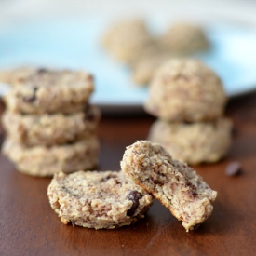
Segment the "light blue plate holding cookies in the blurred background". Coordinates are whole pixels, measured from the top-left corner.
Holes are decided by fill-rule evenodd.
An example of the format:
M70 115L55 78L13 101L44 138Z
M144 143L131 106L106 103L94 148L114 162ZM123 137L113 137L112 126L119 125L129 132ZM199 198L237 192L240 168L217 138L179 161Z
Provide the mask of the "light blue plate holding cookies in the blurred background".
M157 30L160 22L150 20ZM0 68L37 65L85 69L96 77L93 103L105 107L141 106L147 88L136 87L128 67L115 62L101 49L106 20L35 20L15 24L0 31ZM228 96L256 88L256 32L247 26L224 21L205 26L211 42L209 52L196 56L222 78ZM6 92L0 85L0 94Z

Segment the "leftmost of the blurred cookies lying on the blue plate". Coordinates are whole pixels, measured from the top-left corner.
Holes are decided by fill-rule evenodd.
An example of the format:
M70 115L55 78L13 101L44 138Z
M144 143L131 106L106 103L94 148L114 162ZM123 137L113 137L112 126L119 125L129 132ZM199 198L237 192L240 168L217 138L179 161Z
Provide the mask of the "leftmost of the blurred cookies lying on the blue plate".
M141 50L151 47L153 41L143 20L120 20L103 35L102 46L117 61L129 63L137 59Z

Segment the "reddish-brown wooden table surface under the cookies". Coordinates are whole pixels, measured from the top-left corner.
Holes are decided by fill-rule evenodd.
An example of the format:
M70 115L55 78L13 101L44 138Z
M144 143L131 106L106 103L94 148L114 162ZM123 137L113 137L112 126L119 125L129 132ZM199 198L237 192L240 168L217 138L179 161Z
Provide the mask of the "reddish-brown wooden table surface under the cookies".
M256 255L256 93L230 101L227 115L236 128L228 157L195 167L219 193L214 211L189 233L157 201L143 220L119 230L64 225L48 203L50 179L20 174L0 156L0 255ZM100 169L119 169L125 147L145 139L153 122L104 116ZM243 173L228 177L224 169L234 160Z

